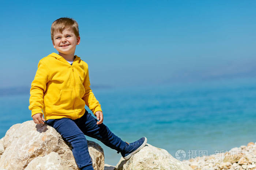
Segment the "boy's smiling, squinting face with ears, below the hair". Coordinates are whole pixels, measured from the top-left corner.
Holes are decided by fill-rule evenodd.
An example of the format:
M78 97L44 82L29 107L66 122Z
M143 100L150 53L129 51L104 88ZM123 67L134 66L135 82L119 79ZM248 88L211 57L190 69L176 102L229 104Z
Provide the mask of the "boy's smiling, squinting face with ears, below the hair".
M74 55L76 45L80 43L80 36L76 37L73 30L64 28L62 33L57 31L53 34L53 47L59 51L59 54Z

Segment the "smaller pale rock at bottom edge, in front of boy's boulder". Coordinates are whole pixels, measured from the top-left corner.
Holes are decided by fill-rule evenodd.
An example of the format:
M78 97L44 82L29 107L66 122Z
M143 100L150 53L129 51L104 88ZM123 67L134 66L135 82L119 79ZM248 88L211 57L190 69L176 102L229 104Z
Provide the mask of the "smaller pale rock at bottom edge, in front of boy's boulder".
M59 154L51 152L44 157L33 159L25 170L72 170L72 168L65 164Z

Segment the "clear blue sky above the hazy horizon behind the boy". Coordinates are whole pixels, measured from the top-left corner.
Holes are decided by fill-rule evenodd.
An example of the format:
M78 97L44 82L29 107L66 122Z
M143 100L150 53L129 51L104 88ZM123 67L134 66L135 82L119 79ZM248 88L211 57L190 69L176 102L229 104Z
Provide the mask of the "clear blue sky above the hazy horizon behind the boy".
M92 85L256 75L256 1L5 1L0 15L0 87L30 86L60 17L78 21Z

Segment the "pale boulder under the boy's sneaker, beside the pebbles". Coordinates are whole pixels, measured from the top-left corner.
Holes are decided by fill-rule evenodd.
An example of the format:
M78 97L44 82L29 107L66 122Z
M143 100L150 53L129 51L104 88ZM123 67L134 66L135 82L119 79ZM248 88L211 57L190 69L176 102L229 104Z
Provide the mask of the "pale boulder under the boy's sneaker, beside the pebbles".
M173 158L166 150L154 147L148 143L130 159L124 160L124 158L121 157L116 168L117 170L192 170L188 165Z

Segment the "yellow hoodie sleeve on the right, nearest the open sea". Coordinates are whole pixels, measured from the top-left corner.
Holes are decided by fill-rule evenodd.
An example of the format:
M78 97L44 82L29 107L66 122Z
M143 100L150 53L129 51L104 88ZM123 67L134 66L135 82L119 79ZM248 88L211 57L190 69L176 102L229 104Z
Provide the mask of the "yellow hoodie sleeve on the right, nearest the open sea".
M87 65L86 75L85 75L84 83L83 83L84 90L85 90L83 100L84 100L86 106L88 106L89 109L95 115L95 112L102 111L102 110L101 110L101 105L99 104L98 100L95 98L93 91L90 88L90 85L91 84L90 84L89 71L88 71L88 65Z

